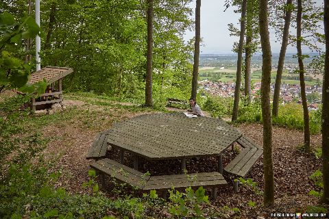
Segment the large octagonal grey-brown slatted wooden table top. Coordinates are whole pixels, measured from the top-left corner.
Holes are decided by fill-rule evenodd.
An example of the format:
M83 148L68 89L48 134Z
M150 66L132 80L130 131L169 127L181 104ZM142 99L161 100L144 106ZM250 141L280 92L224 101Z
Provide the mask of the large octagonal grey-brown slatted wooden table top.
M178 159L219 155L241 136L218 118L145 114L115 123L108 144L146 159Z

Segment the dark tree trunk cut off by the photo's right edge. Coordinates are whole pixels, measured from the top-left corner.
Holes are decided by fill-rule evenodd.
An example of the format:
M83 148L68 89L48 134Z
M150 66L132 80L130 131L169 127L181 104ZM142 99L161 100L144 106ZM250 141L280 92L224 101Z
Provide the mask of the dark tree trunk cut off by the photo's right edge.
M329 0L324 0L324 33L326 34L326 60L324 62L324 86L322 90L322 173L324 196L322 202L329 204Z

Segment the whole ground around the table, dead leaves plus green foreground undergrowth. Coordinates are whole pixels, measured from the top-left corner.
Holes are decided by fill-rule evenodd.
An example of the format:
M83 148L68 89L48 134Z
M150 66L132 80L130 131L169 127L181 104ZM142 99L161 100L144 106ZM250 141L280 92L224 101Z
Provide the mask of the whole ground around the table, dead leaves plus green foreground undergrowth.
M262 207L263 158L247 176L252 181L245 181L237 194L233 192L233 179L224 174L229 186L219 189L216 200L208 201L206 195L210 190L188 189L171 192L171 198L164 201L156 192L140 194L112 179L108 179L107 188L99 185L102 191L99 192L100 181L89 171L92 161L85 159L96 133L126 118L167 110L151 110L140 107L139 103L95 94L64 97L64 111L1 114L1 124L5 124L0 139L4 145L1 148L1 218L267 218L273 212L323 210L314 207L319 198L308 195L310 191L321 192L310 179L310 175L321 168L321 159L297 149L303 142L302 132L280 127L273 128L275 207ZM261 125L242 124L238 128L261 145ZM319 146L321 136L312 136L311 142ZM239 150L236 146L234 151L224 154L224 165ZM110 156L119 159L115 151ZM125 156L125 163L132 166L132 157ZM216 171L217 159L190 159L186 165L188 172ZM142 159L140 164L141 171L149 171L151 175L172 174L179 172L179 168L180 163L175 161Z

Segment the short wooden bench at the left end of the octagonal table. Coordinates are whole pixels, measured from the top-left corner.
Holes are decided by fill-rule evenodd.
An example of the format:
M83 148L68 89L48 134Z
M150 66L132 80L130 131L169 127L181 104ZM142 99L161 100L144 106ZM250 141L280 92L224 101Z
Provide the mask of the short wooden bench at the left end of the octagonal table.
M108 151L108 131L102 131L97 133L86 159L101 159L106 156L106 151Z

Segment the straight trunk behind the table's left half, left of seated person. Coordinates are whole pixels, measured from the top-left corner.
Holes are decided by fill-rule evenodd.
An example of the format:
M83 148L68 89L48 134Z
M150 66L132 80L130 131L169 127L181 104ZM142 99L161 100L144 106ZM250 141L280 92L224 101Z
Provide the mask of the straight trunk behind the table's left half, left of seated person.
M145 106L152 107L152 56L153 56L153 0L147 0L147 60Z

